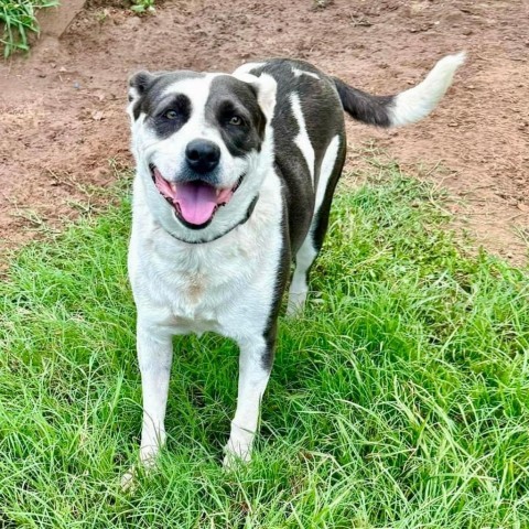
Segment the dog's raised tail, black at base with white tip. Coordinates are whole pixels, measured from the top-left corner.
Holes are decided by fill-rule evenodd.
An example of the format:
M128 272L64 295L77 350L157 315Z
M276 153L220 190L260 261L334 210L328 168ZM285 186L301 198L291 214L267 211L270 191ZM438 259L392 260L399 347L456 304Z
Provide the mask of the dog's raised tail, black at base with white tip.
M401 127L427 117L452 83L455 71L465 62L465 53L447 55L435 64L425 79L396 96L371 96L334 77L344 110L364 123Z

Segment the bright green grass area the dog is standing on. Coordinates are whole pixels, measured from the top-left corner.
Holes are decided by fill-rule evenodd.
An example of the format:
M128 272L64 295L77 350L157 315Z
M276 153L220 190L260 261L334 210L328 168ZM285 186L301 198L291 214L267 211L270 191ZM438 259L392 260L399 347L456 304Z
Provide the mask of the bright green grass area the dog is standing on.
M527 271L465 257L430 187L374 171L336 199L234 473L237 350L185 337L168 449L119 489L141 421L129 198L20 251L0 287L0 527L528 528Z

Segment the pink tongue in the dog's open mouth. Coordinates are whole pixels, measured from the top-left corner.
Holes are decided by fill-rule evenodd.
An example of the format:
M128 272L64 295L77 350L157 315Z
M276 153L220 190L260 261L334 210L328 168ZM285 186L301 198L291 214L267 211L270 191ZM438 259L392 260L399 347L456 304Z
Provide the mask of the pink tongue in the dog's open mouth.
M217 206L215 187L204 182L188 182L176 185L175 202L185 220L190 224L207 223Z

